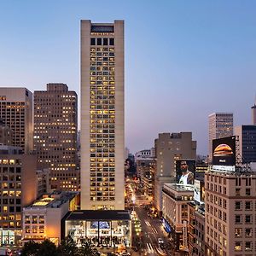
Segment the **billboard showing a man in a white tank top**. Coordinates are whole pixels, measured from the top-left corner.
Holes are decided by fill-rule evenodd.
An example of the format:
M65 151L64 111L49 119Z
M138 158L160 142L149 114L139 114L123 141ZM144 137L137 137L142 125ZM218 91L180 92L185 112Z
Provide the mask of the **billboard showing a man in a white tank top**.
M176 183L194 184L195 160L176 160Z

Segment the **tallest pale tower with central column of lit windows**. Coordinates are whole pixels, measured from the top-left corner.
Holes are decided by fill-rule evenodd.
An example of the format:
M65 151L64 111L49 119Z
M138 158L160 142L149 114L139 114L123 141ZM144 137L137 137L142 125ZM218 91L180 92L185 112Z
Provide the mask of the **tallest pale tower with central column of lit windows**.
M80 138L81 209L124 209L123 20L81 20Z

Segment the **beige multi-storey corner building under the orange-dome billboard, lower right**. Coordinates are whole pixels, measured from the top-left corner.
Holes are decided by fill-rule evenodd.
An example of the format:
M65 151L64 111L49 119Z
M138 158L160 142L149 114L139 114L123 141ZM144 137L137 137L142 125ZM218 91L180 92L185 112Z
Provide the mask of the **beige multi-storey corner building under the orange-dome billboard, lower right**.
M207 172L207 255L256 255L255 173Z

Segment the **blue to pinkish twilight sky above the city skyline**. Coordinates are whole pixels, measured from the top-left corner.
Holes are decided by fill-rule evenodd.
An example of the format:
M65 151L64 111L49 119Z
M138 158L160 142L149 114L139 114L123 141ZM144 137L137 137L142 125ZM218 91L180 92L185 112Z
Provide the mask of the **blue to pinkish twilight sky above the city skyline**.
M256 93L256 1L2 0L0 86L79 94L79 25L125 20L125 144L192 131L207 154L207 116L251 122Z

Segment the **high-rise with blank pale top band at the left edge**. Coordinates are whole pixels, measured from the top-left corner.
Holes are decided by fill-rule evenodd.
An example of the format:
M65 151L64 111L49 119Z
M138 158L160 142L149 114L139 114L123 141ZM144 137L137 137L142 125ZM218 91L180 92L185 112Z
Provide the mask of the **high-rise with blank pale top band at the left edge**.
M12 130L13 145L28 153L33 148L32 92L0 88L0 118Z

